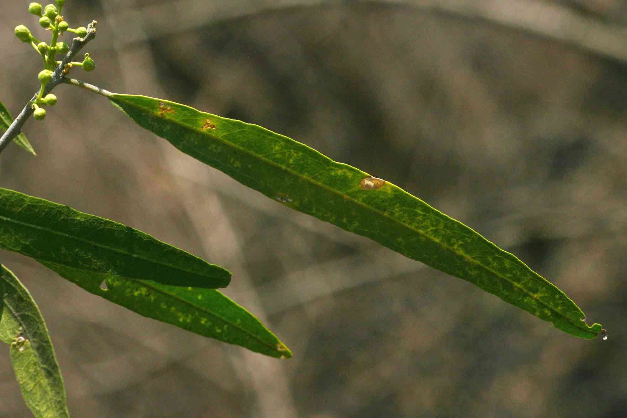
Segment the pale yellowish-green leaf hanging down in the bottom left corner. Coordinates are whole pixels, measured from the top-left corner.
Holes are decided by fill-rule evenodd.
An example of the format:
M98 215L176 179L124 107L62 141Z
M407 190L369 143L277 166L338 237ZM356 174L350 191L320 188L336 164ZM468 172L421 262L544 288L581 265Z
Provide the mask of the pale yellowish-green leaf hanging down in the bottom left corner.
M69 417L65 387L48 328L30 293L0 266L0 340L10 347L11 365L35 417Z

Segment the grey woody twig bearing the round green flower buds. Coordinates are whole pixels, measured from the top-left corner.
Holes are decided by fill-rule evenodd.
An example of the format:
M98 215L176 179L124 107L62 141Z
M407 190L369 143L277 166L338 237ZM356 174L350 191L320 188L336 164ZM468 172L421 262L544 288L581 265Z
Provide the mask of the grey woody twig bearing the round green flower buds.
M65 69L65 65L72 61L72 59L76 56L76 54L78 54L78 51L80 51L83 46L85 46L89 41L96 37L96 23L96 21L93 21L92 23L87 25L87 34L85 35L85 38L72 39L72 46L70 50L63 57L61 63L56 67L52 75L52 80L44 88L42 96L47 95L48 93L50 93L50 91L52 91L53 88L58 86L60 83L63 83L63 78L65 77L65 74L63 74L63 70ZM24 123L26 123L26 120L28 120L28 118L31 117L34 112L32 103L36 100L38 94L39 90L37 90L33 98L31 98L31 100L26 103L22 111L19 112L18 117L15 118L13 123L11 123L11 126L6 130L6 132L4 132L4 134L0 138L0 152L3 152L6 146L9 145L9 142L17 137L22 131Z

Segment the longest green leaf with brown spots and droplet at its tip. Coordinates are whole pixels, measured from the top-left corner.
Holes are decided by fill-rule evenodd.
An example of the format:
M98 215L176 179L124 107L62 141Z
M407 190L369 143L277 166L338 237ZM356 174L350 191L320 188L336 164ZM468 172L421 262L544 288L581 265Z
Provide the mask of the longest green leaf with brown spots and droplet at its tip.
M257 125L167 100L108 97L141 127L285 206L468 280L576 337L601 332L514 255L390 182Z

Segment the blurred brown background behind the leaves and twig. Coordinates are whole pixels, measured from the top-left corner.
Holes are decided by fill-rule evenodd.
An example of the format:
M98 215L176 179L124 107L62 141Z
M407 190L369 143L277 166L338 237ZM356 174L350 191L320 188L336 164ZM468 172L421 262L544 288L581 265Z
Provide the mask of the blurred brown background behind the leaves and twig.
M3 1L16 115L45 36ZM73 76L288 135L421 197L566 292L609 340L571 337L465 281L270 201L59 86L38 152L0 186L152 234L233 272L279 361L143 318L0 252L50 328L73 417L627 415L627 5L589 1L67 0L98 21ZM64 36L65 41L70 36ZM84 52L85 52L84 51ZM8 350L0 417L29 417Z

